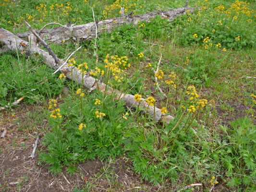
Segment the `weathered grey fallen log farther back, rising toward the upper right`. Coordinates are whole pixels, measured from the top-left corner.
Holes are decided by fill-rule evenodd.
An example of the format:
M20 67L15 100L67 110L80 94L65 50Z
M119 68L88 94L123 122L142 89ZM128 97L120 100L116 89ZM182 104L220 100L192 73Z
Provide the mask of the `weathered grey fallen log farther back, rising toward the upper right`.
M158 12L148 12L145 14L140 15L124 15L121 14L121 17L113 18L113 19L106 19L102 21L98 21L97 26L95 22L88 23L88 24L81 24L76 25L72 29L67 27L56 27L53 29L43 29L43 30L35 30L37 34L47 41L48 43L58 43L61 44L63 41L73 40L79 41L85 39L91 39L96 36L96 27L98 28L98 34L108 31L111 32L118 26L123 24L137 24L138 21L140 22L150 22L152 18L155 18L157 15L160 15L161 18L166 18L170 22L173 21L178 15L185 14L187 11L194 12L195 7L183 7L177 8L169 11L158 11ZM30 31L24 33L18 33L16 36L20 38L24 38L26 41L27 37L31 34Z

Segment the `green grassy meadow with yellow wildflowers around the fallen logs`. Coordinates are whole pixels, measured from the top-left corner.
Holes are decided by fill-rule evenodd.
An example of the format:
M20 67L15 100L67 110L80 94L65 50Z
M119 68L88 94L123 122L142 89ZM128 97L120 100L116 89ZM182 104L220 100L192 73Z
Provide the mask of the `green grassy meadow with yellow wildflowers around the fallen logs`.
M52 22L86 24L94 22L92 7L96 19L104 20L119 17L121 6L125 14L143 14L184 5L185 0L0 0L0 27L16 34L28 31L24 21L34 29ZM114 93L89 93L65 74L52 74L37 57L0 55L0 107L12 118L23 105L40 111L40 117L29 112L17 130L44 134L40 165L54 175L72 175L87 160L125 157L142 182L162 186L158 191L193 183L202 186L186 191L256 191L256 2L188 1L188 7L196 6L171 23L156 17L82 43L50 45L61 59L82 46L69 65L134 95L135 109L114 100ZM59 25L46 28L53 27ZM22 96L20 106L12 106ZM174 120L152 120L142 112L141 98ZM10 121L3 113L0 120ZM0 154L5 150L0 146ZM106 191L122 191L112 175L107 180ZM77 190L93 191L94 185L89 179Z

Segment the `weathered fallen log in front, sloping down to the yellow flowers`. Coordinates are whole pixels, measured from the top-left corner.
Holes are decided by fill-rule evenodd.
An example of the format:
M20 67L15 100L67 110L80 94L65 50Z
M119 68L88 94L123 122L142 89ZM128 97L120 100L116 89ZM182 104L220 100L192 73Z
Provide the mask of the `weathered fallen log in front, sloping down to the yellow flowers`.
M41 57L42 60L47 64L48 67L53 68L53 69L58 69L63 63L63 60L60 60L58 63L55 62L53 57L49 55L48 52L46 52L43 49L38 48L37 46L34 45L29 45L27 41L24 41L23 39L13 35L11 32L3 29L0 27L0 44L2 44L5 48L9 48L10 50L16 52L17 50L19 52L24 52L27 55L35 55L36 57ZM71 73L72 70L72 73ZM79 84L82 83L82 73L77 70L76 67L72 66L68 67L67 64L65 64L62 67L61 72L65 72L67 78L72 79L78 82ZM84 74L84 84L88 89L92 89L93 87L97 87L100 91L104 92L106 88L106 84L95 80L95 78L91 77L88 74ZM135 105L138 105L138 102L135 102L134 96L129 95L129 94L124 94L118 90L112 90L111 88L107 88L107 93L117 95L115 99L123 99L125 101L125 105L129 108L135 108ZM148 107L148 104L145 102L145 99L142 99L143 101L141 102L140 106L147 111L148 114L151 115L152 119L156 119L156 121L163 121L165 119L166 123L168 123L170 120L173 119L172 116L168 115L166 116L165 114L161 114L161 111L159 108L154 108L152 106ZM164 118L165 117L165 118Z

